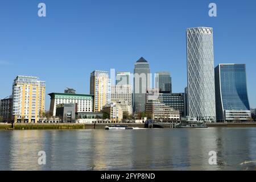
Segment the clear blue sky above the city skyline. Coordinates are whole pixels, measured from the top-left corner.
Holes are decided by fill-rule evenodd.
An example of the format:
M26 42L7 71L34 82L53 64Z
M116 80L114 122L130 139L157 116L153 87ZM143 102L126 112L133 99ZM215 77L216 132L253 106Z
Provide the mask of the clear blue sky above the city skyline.
M38 16L46 3L47 16ZM208 5L217 4L217 17ZM213 27L214 65L245 63L250 106L256 107L256 1L13 1L0 2L0 98L16 75L38 76L47 94L89 93L93 70L133 72L143 56L152 73L170 71L173 92L187 85L188 27ZM49 107L49 96L46 97Z

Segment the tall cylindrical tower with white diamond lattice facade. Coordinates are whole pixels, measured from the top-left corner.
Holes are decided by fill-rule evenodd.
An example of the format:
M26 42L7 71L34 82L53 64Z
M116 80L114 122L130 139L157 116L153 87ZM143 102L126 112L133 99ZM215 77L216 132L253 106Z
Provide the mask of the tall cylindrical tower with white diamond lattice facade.
M213 30L187 28L188 115L198 121L216 121Z

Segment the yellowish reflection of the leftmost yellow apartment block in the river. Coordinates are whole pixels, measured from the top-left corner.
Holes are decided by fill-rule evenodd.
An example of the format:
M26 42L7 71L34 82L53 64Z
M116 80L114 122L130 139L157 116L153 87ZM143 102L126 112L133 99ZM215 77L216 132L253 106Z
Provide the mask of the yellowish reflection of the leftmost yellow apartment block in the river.
M38 152L42 146L38 130L13 131L10 140L10 168L13 170L40 170Z

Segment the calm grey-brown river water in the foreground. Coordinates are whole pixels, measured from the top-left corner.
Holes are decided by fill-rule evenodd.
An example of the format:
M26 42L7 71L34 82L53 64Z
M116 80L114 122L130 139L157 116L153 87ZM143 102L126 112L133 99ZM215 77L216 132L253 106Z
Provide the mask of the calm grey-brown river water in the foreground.
M256 128L0 131L0 170L255 169Z

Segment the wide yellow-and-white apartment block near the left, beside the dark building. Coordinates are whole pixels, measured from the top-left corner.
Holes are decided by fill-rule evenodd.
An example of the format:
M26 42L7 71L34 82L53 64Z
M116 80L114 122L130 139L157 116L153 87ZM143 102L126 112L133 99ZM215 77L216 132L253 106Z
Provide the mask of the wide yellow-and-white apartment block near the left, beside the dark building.
M45 107L46 82L38 77L17 76L13 83L14 122L38 122Z

